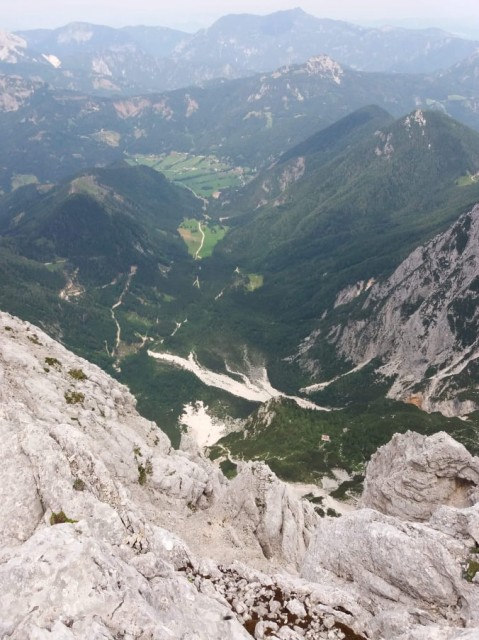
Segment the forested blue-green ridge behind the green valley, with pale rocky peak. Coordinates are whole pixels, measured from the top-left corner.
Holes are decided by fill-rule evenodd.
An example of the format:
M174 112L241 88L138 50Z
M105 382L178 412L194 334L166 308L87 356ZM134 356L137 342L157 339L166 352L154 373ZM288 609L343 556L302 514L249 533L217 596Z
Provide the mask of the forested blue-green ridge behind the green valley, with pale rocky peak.
M212 154L260 168L371 103L396 117L432 108L479 129L479 59L463 64L457 75L380 74L315 56L249 78L114 99L5 75L0 79L6 87L0 100L0 188L10 190L17 175L54 182L126 154Z

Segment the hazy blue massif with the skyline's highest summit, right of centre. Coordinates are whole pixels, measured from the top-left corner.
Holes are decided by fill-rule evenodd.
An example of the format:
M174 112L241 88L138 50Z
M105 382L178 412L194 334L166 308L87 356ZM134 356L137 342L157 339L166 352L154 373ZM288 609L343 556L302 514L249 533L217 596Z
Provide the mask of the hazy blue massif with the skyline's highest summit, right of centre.
M224 16L180 43L173 58L229 65L245 73L327 54L362 71L424 73L465 58L478 44L439 29L360 27L315 18L297 8L267 16Z

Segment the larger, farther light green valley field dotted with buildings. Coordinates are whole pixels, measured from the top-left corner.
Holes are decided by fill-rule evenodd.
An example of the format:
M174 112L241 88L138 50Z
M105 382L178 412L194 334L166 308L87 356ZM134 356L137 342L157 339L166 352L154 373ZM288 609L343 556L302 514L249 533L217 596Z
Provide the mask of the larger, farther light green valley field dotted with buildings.
M144 164L161 171L167 178L183 184L197 195L210 198L223 189L239 187L248 180L251 171L233 167L215 156L195 156L172 151L168 155L135 155L129 164Z

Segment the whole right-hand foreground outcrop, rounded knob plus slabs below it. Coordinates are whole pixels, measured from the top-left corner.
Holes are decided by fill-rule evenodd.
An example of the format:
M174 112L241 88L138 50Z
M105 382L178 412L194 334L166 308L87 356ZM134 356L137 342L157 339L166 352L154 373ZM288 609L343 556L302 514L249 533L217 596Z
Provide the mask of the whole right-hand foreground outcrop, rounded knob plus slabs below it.
M372 638L475 637L478 485L479 460L447 434L394 436L368 465L363 508L318 526L302 576L354 583Z

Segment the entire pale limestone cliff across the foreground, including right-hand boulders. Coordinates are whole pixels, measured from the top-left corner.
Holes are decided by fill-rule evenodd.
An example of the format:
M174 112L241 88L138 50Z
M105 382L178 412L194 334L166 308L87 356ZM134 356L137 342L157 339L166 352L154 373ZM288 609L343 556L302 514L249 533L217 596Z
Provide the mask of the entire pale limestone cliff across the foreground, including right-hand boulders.
M479 460L446 434L396 436L321 519L7 314L0 433L0 638L479 637Z

